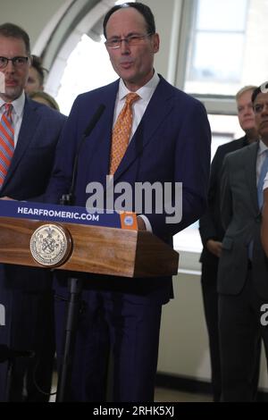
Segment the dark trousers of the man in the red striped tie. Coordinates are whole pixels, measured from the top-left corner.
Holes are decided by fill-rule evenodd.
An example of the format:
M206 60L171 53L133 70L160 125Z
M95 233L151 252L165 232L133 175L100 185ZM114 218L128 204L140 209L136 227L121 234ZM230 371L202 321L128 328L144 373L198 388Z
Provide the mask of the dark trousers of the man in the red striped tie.
M35 357L0 364L0 399L46 402L54 367L53 293L7 290L5 298L6 325L0 327L0 342L33 351Z

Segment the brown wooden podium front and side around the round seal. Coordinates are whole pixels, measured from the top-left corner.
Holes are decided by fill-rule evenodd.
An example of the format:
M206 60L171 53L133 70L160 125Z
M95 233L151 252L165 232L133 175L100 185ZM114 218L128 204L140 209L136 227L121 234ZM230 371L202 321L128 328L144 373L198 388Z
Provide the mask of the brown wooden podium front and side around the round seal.
M31 235L51 222L0 217L0 262L39 265L29 248ZM59 270L100 273L125 277L177 274L179 254L147 231L130 231L76 223L54 223L72 238L69 259Z

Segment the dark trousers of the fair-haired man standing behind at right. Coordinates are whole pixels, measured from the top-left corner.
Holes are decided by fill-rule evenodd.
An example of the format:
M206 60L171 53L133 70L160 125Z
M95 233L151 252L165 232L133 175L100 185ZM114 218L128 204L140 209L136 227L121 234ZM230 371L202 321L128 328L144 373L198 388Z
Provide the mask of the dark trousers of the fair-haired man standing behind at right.
M205 323L209 340L214 402L220 401L222 395L222 367L219 338L217 272L218 262L216 260L212 264L204 263L202 265L201 286L205 311ZM259 382L260 357L261 340L258 340L255 349L255 371L252 379L254 399L256 399Z

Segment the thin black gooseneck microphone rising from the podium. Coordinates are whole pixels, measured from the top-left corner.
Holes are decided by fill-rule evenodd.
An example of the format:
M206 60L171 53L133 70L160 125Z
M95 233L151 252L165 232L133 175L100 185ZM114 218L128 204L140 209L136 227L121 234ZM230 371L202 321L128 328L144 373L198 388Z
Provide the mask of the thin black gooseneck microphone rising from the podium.
M83 144L85 143L85 140L87 139L87 137L91 134L91 132L95 128L96 122L98 122L98 120L100 119L100 117L102 116L102 113L104 113L104 111L105 111L105 105L104 104L99 105L97 110L96 110L96 113L94 113L90 122L88 122L88 127L86 128L86 130L83 133L82 139L80 140L80 145L79 145L78 150L77 150L77 154L76 154L75 159L74 159L74 164L73 164L73 169L72 169L72 177L71 177L71 188L69 190L69 193L68 194L63 194L63 196L61 197L61 200L60 200L60 203L63 206L71 206L74 203L74 187L75 187L75 182L76 182L76 178L77 178L77 170L78 170L78 161L79 161L79 157L80 157L80 150L81 150L81 147L83 146Z

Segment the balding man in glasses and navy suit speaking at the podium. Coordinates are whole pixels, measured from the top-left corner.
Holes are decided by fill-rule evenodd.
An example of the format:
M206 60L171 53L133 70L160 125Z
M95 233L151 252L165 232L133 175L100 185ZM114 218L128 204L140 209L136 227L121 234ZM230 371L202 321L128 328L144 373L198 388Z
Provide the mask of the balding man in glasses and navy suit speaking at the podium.
M114 185L128 182L183 183L182 219L166 222L164 212L138 215L138 229L152 231L172 244L172 235L194 223L205 211L211 133L205 108L172 87L154 69L159 49L151 10L140 3L114 6L104 20L106 48L120 80L78 97L63 130L47 200L57 202L70 189L74 156L88 121L105 105L95 129L80 149L75 205L86 206L89 182L105 186L110 173L114 122L126 96L137 93L132 105L129 146L113 174ZM174 197L171 198L174 204ZM130 208L131 210L131 208ZM90 240L90 238L88 238ZM66 296L59 278L57 294ZM62 277L62 276L61 276ZM113 400L153 401L162 305L172 297L172 278L130 279L88 275L84 282L71 383L71 400L100 401L105 394L105 351L113 350ZM63 330L64 300L56 304L57 354Z

